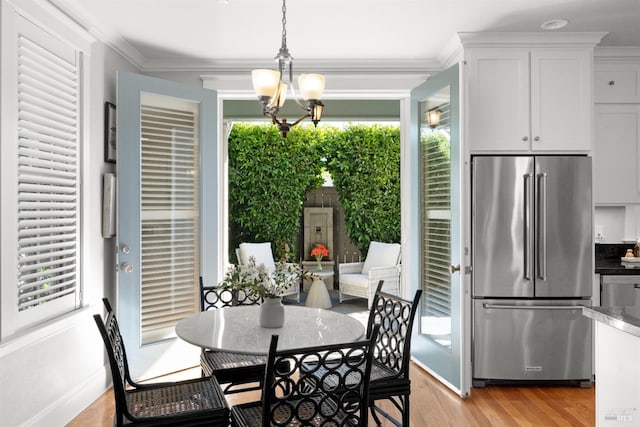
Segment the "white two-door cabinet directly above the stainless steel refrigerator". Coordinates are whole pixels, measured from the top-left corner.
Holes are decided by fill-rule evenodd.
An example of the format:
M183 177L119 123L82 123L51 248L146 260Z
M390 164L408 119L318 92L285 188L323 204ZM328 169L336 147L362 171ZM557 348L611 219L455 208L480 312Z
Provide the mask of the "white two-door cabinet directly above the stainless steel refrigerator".
M591 150L591 48L474 48L466 59L471 152Z

